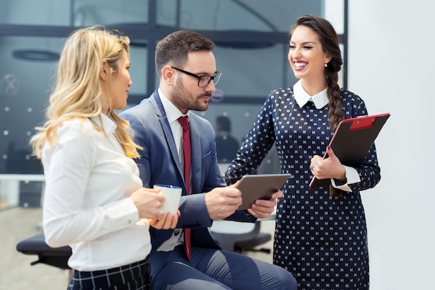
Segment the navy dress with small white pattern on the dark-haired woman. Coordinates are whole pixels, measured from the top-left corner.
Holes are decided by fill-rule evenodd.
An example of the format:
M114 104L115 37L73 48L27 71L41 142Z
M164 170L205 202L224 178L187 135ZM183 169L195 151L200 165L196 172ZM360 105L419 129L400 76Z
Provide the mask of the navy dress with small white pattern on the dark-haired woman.
M363 100L341 90L345 118L367 115ZM380 179L375 145L355 168L361 182L349 184L352 193L330 198L329 187L309 189L311 157L323 156L331 140L327 106L313 102L299 107L293 88L273 90L224 174L233 184L252 174L275 143L281 172L293 178L278 200L273 262L295 276L298 289L368 289L366 218L359 191Z

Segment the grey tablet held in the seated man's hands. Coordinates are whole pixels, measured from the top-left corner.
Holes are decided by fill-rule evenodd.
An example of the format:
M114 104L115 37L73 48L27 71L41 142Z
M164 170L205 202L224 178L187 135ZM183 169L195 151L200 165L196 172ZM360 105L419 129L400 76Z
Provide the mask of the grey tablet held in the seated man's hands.
M269 200L272 194L286 183L290 174L245 175L237 188L242 192L243 202L238 209L249 209L256 200Z

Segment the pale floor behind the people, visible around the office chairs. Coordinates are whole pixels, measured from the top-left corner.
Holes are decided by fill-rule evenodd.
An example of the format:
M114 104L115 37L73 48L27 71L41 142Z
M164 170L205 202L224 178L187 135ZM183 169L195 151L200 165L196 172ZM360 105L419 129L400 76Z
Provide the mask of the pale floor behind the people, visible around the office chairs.
M37 260L34 255L17 252L15 245L42 232L38 208L14 207L0 209L0 290L59 290L66 289L69 272L45 264L31 266ZM274 223L262 223L262 232L273 232ZM272 241L261 245L272 248ZM272 255L263 252L247 252L246 255L272 262Z

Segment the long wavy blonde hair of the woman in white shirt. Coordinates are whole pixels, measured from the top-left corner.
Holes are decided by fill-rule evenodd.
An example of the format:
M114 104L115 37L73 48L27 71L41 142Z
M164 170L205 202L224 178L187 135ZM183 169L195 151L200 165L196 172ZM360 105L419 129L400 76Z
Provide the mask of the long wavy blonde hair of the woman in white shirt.
M46 122L30 140L33 155L41 159L42 148L48 142L58 143L56 129L68 120L99 116L103 110L104 97L99 81L99 72L104 61L110 67L109 77L117 71L117 60L122 51L129 54L130 40L118 31L109 31L102 26L90 26L74 31L65 42L60 54L56 84L49 97L45 113ZM115 137L126 156L138 158L138 149L133 142L133 132L128 121L111 108L108 118L117 125ZM95 129L101 131L94 125Z

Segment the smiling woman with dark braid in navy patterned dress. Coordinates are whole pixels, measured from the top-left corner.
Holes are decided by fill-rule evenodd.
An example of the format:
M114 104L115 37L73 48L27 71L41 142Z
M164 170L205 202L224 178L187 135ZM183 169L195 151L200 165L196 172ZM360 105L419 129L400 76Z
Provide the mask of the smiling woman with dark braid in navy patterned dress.
M375 145L359 167L343 166L327 147L340 120L367 115L363 100L340 89L339 38L323 18L304 15L290 31L288 61L297 83L272 90L225 172L235 183L276 145L281 172L291 173L278 200L274 264L298 289L368 289L368 242L360 191L380 179ZM322 156L329 154L323 160ZM332 186L309 189L313 176Z

